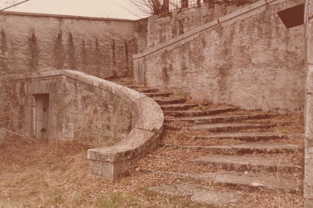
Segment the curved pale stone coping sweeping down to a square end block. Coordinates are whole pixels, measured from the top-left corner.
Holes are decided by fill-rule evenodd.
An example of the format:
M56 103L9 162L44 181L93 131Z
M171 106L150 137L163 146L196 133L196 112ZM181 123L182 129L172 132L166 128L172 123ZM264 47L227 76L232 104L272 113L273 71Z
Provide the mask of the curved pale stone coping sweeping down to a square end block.
M114 182L121 171L157 146L163 131L164 115L150 97L125 86L73 70L55 70L26 75L14 75L10 80L63 75L117 95L131 106L131 132L110 147L89 149L90 176Z

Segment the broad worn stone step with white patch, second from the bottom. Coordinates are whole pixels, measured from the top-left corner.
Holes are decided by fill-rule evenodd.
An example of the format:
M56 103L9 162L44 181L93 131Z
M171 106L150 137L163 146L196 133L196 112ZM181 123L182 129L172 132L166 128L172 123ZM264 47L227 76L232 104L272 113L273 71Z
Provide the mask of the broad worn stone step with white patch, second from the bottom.
M181 173L172 171L155 171L145 169L144 172L166 174L190 181L199 181L230 189L244 191L273 191L280 193L300 194L300 180L276 178L274 175L263 175L257 173L243 173L236 171L220 170L217 173Z

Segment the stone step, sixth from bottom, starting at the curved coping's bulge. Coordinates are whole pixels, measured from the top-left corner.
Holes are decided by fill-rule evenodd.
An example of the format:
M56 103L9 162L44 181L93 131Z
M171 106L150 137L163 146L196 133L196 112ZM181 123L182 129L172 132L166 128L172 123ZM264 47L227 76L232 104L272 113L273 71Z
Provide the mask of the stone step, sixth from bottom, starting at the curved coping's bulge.
M229 132L253 128L272 128L275 123L215 123L215 124L198 124L192 127L171 126L164 124L166 129L170 130L198 130L208 132Z

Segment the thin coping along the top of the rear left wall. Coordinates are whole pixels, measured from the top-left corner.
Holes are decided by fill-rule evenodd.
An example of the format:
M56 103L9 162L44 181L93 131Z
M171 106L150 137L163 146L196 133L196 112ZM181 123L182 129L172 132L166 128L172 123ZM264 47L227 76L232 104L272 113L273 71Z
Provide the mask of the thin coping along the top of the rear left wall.
M104 18L104 17L84 17L84 16L72 16L72 15L63 15L63 14L42 14L42 13L30 13L30 12L2 11L2 12L0 12L0 14L37 16L37 17L57 17L57 18L69 18L69 19L87 19L87 20L106 20L106 21L136 22L136 20L128 20L128 19Z

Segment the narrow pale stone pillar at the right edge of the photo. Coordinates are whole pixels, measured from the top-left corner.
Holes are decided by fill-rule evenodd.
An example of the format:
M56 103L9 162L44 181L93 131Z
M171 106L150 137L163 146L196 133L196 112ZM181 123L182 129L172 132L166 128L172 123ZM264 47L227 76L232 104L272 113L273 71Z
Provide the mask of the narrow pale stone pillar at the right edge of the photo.
M313 207L313 0L305 1L304 207Z

